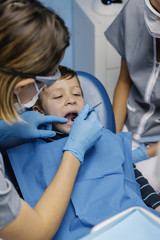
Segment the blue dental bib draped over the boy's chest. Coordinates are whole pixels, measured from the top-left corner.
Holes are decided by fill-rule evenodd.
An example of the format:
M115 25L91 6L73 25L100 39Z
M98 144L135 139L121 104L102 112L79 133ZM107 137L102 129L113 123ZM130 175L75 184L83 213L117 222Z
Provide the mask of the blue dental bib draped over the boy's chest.
M35 140L8 150L24 199L34 207L51 182L63 156L66 138ZM68 209L54 239L79 239L101 221L128 209L148 208L141 199L132 165L131 134L103 129L85 155Z

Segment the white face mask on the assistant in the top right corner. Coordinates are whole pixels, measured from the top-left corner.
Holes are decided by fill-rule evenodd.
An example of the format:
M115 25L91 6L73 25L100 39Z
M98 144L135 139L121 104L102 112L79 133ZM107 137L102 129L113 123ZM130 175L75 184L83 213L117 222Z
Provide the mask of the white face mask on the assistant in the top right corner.
M160 13L158 13L149 0L144 2L144 19L152 37L160 38Z

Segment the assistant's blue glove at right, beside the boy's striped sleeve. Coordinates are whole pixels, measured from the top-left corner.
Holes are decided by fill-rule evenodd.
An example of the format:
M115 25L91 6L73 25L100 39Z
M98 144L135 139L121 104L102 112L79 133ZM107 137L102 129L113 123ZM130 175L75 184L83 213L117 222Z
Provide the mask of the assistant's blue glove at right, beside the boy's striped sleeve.
M132 151L132 161L133 163L137 163L146 159L149 159L146 152L146 147L144 144L140 145L138 148Z

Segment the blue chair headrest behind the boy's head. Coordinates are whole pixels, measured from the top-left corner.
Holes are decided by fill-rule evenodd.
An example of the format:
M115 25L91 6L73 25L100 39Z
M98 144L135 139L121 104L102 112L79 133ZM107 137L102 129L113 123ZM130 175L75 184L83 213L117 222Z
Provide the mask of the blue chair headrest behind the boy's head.
M92 107L100 101L103 101L98 107L102 125L115 133L115 119L112 104L104 86L96 77L89 73L82 71L77 71L76 73L81 83L85 103L88 103Z

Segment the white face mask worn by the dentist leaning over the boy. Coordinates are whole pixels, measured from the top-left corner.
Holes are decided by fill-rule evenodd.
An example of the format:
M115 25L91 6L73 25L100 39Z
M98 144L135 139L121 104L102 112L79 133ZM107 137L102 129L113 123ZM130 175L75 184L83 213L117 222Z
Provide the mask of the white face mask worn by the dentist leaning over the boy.
M20 98L19 98L19 96L17 94L18 103L20 104L20 106L22 106L22 108L31 108L37 102L38 95L41 93L41 91L43 90L44 86L39 89L36 82L34 82L34 85L35 85L37 93L33 96L33 98L29 102L21 103L21 100L20 100ZM17 108L17 104L15 104L15 106Z

